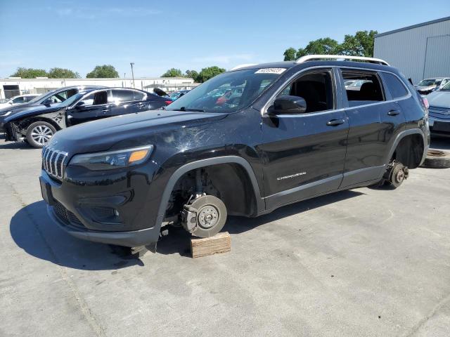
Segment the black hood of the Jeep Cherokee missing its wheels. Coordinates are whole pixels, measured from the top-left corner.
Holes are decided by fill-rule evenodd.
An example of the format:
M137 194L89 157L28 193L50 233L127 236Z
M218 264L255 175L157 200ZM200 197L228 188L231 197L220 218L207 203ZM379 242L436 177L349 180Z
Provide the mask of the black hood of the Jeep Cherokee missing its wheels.
M226 117L224 113L149 110L71 126L58 131L49 145L69 154L98 152L148 144L153 135ZM128 146L129 145L129 146ZM158 146L158 145L157 145Z

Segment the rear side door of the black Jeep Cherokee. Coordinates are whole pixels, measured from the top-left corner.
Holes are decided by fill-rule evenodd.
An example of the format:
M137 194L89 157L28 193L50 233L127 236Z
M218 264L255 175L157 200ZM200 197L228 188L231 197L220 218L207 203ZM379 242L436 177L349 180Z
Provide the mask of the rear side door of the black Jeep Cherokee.
M392 100L381 75L371 70L340 69L342 97L349 119L347 157L341 187L383 175L386 153L399 131L404 114ZM350 86L345 82L354 81Z

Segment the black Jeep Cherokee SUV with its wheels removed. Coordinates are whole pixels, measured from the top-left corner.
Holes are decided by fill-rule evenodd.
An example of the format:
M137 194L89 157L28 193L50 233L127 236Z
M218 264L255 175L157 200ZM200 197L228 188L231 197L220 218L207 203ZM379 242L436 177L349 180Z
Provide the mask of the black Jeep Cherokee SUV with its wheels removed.
M40 177L51 218L80 239L152 246L166 225L209 237L227 215L399 186L430 142L420 95L383 60L329 58L238 68L166 110L56 133Z

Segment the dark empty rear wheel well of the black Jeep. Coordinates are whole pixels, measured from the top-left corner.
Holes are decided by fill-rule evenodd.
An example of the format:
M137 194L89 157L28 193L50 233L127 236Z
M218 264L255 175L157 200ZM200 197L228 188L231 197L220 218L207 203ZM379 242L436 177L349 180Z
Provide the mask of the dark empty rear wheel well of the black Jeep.
M423 138L418 133L401 138L392 159L401 162L409 169L416 169L423 157Z

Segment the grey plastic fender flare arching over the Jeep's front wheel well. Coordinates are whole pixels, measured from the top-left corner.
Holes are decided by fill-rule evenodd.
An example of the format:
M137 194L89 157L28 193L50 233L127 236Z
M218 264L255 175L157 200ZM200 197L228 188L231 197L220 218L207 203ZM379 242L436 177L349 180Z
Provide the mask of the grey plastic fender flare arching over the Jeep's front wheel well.
M264 211L265 202L261 197L261 193L259 192L259 185L255 176L255 172L252 169L252 166L243 159L238 156L223 156L223 157L214 157L208 159L200 159L198 161L192 161L191 163L184 164L183 166L176 169L176 171L170 176L169 181L166 184L164 192L162 193L162 198L160 201L160 206L158 208L158 216L156 218L156 226L160 227L162 224L162 220L164 220L165 211L167 208L167 203L169 202L170 194L172 194L172 190L176 182L184 175L184 173L188 171L192 171L193 169L200 169L205 166L212 166L217 164L238 164L243 167L245 172L248 174L250 178L250 183L253 187L253 192L255 193L255 199L257 203L257 213Z

